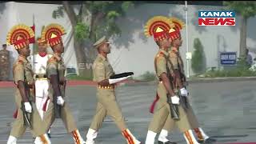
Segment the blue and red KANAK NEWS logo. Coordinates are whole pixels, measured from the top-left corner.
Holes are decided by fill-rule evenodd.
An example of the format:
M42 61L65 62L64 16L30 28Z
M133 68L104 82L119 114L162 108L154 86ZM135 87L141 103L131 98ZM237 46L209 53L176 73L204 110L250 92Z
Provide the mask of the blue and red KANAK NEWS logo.
M234 11L198 11L198 26L235 26Z

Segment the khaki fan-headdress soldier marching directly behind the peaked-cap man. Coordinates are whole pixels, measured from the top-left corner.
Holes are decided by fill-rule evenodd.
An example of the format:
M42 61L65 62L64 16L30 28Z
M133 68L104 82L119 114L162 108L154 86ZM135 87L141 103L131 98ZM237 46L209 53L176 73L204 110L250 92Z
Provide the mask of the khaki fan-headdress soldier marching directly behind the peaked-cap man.
M42 41L47 41L54 51L54 55L48 60L46 66L46 74L49 79L49 102L43 121L46 122L46 131L54 122L55 118L62 118L68 133L71 133L75 144L85 143L81 137L79 130L75 124L70 106L65 102L66 66L62 59L64 46L62 43L62 35L66 34L62 26L52 23L45 27L42 31Z

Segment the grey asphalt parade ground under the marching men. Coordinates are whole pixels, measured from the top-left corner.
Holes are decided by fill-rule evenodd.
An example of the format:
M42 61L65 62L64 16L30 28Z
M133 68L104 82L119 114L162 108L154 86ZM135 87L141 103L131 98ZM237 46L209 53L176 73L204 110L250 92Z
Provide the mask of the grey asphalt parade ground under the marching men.
M216 143L256 143L256 81L191 83L189 86L191 105L206 134L216 138ZM147 126L152 118L149 107L156 93L155 85L118 86L116 94L130 131L143 143ZM70 86L66 90L67 102L74 114L78 129L86 139L86 132L96 108L94 86ZM0 89L0 144L5 144L14 118L14 88ZM74 143L60 119L51 129L53 144ZM170 133L173 141L185 144L178 130ZM29 130L20 144L32 143ZM125 144L126 140L110 117L106 117L99 130L96 144ZM155 142L157 143L157 142Z

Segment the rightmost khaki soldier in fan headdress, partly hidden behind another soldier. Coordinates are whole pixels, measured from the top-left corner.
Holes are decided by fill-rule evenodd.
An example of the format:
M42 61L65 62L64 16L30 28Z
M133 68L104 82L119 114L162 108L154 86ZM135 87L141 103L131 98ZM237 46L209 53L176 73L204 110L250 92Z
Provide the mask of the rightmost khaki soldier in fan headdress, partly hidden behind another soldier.
M170 18L170 21L174 23L174 28L169 30L170 38L171 38L171 47L169 50L169 62L170 62L170 71L172 73L173 78L175 78L175 90L180 91L180 94L182 95L183 99L185 99L188 96L188 92L186 90L186 76L183 69L183 61L181 58L181 55L179 53L179 47L182 46L182 37L180 34L180 30L184 27L184 22L179 20L178 18ZM186 98L187 99L187 98ZM194 130L195 134L198 137L199 142L215 142L214 139L207 136L201 127L199 127L198 120L194 114L194 111L192 107L190 106L190 103L187 99L187 105L186 105L186 115L189 118L191 130L189 130L189 135L186 136L186 141L189 143L198 143L197 140L194 138L194 134L192 130ZM169 123L166 123L166 125L163 127L163 130L166 131L166 134L162 136L159 135L159 138L166 137L167 131L171 130L173 126L170 126ZM189 138L190 137L190 138ZM190 141L190 139L192 141Z

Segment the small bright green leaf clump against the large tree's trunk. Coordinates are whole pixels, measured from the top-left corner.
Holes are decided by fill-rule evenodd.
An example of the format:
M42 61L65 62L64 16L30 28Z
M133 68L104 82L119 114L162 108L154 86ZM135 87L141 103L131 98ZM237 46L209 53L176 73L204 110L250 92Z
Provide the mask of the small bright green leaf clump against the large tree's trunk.
M89 26L83 22L78 22L74 30L75 38L78 41L83 41L89 37Z

